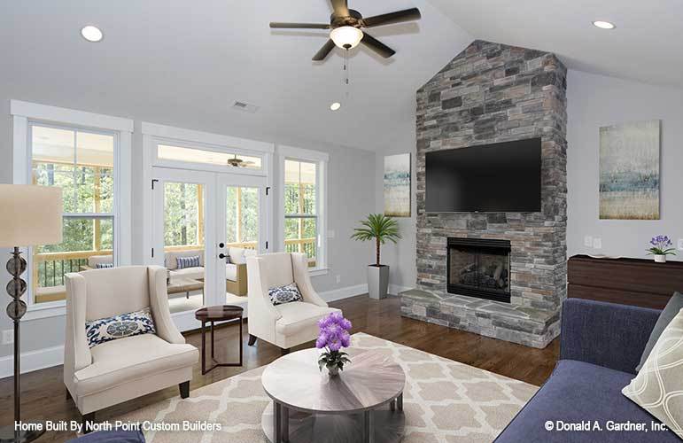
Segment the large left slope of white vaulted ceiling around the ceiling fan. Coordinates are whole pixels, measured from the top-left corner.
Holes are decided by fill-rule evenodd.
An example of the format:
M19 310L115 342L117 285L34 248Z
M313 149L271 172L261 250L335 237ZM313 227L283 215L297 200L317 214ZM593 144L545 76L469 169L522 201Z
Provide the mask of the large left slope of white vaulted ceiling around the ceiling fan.
M328 0L2 2L0 75L8 98L233 136L370 150L410 139L415 89L472 38L424 0L350 6L364 16L417 6L423 19L376 28L372 35L397 54L387 61L354 49L349 88L341 50L311 61L326 31L268 27L329 22ZM101 43L81 38L86 24L102 28ZM235 100L260 109L229 109ZM332 113L336 101L342 108Z

